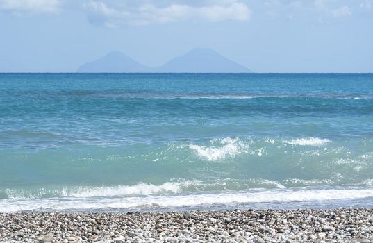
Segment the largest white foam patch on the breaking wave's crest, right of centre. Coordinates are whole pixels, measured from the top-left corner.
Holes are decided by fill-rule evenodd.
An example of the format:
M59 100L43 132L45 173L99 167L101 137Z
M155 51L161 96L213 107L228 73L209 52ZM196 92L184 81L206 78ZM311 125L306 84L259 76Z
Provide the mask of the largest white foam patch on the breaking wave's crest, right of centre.
M189 149L197 153L199 158L208 161L222 160L226 157L235 157L247 152L249 145L238 137L225 137L222 140L212 140L212 146L190 144Z

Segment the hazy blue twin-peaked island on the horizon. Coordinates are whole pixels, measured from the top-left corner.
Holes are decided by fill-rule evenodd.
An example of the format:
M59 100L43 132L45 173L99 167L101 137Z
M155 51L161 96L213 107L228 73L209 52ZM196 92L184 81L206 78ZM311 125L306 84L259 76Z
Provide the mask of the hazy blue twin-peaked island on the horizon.
M147 67L120 51L87 62L78 68L79 73L251 73L243 65L209 48L192 49L183 56L169 60L160 67Z

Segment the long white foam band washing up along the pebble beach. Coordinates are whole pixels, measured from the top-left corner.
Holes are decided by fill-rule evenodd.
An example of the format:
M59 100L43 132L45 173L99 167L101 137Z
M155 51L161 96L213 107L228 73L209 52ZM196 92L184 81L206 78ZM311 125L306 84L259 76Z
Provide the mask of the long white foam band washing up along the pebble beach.
M212 205L234 205L235 203L286 203L325 201L335 199L365 199L373 197L373 188L344 190L266 190L259 192L222 192L219 194L150 195L127 197L94 197L64 199L32 199L0 201L0 212L26 210L133 210L188 208Z

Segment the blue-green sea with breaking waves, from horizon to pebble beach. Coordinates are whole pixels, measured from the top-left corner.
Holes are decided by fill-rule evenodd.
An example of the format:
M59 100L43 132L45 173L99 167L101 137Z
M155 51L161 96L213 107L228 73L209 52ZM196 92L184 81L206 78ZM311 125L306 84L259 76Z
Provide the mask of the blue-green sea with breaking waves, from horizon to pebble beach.
M373 74L0 74L0 212L373 208Z

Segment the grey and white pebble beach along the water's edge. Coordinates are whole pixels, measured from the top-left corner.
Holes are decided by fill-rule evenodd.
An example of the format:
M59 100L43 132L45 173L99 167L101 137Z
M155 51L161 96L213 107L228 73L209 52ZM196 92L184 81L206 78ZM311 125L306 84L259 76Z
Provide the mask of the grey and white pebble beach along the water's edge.
M0 242L373 242L373 209L0 213Z

